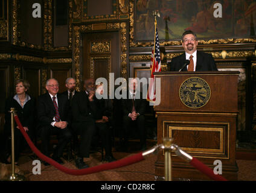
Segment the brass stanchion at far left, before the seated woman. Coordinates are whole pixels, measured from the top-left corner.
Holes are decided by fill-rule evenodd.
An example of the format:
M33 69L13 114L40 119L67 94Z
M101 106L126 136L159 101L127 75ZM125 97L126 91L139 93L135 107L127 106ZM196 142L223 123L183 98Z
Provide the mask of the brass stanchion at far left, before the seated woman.
M8 178L9 181L24 181L25 177L19 174L15 174L14 165L14 113L15 108L10 108L11 113L11 176Z

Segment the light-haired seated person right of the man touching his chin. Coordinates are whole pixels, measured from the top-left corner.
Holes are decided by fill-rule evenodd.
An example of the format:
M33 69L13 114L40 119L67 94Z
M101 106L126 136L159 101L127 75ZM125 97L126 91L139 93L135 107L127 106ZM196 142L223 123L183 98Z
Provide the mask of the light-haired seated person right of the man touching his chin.
M103 95L104 89L103 84L96 86L96 96ZM103 147L105 149L105 159L107 162L112 162L115 158L112 155L112 147L111 147L111 134L110 125L112 124L112 112L113 112L113 104L112 101L107 98L97 99L97 115L96 119L96 130L100 134ZM96 131L96 132L97 132Z

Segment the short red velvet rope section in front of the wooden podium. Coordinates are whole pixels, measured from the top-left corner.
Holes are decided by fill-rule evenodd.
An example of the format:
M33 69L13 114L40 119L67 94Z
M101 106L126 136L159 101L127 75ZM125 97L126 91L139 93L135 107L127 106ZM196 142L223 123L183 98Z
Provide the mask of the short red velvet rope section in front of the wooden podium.
M208 168L208 166L204 165L202 162L200 162L198 159L193 157L193 159L190 161L190 165L194 166L196 169L198 169L200 172L205 174L206 176L210 177L213 180L216 181L228 181L219 174L214 174L213 170Z

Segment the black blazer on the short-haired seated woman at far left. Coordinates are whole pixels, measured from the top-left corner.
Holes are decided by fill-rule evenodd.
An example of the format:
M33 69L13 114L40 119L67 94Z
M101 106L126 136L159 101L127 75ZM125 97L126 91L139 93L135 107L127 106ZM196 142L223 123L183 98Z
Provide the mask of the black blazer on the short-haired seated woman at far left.
M36 110L36 102L32 96L30 96L30 100L25 103L23 109L19 105L19 103L13 99L13 96L7 98L5 101L5 125L4 128L7 130L11 129L11 113L8 111L11 107L14 107L17 111L17 115L19 118L19 121L21 121L21 124L23 127L28 127L28 130L32 129L34 127L34 119L35 119L35 110ZM15 122L15 127L17 126Z

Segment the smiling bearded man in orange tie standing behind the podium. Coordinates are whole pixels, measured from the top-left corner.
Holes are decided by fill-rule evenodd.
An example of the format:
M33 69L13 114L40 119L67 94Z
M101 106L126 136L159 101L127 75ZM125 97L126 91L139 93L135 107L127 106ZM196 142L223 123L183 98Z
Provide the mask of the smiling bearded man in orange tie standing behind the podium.
M197 51L198 40L193 31L182 34L184 54L171 60L171 71L218 71L213 55Z

